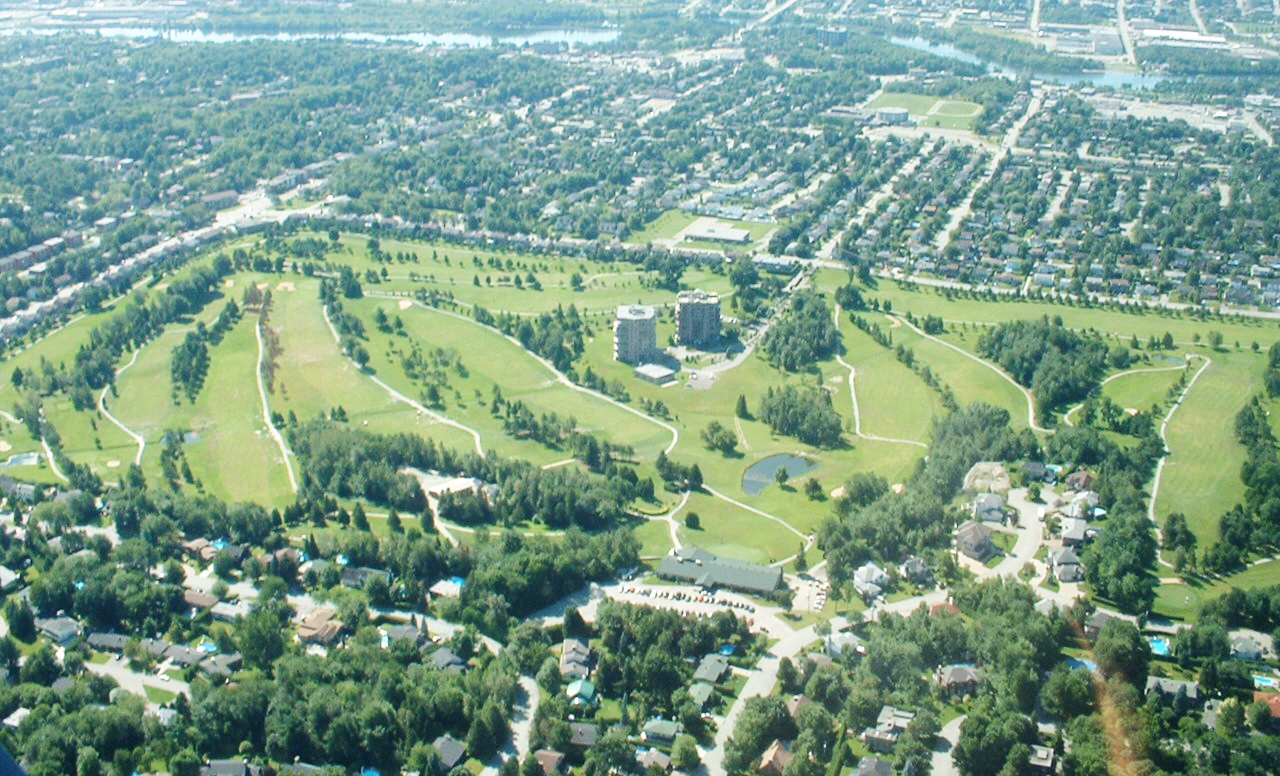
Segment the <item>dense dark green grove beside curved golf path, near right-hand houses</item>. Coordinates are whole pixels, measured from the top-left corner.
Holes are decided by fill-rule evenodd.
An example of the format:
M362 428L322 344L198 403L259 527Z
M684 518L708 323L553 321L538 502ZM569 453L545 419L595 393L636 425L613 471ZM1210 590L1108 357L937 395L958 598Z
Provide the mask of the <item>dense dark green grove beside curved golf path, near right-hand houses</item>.
M1042 421L1088 396L1107 364L1106 343L1068 329L1060 316L1000 324L978 339L978 353L1032 389Z

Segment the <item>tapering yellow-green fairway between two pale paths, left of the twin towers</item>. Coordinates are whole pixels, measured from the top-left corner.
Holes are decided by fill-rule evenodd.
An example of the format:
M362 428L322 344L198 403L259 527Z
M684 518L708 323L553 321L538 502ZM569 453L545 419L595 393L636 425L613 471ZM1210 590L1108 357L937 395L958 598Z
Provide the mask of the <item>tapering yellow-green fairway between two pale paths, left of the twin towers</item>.
M270 320L283 350L270 396L274 411L282 415L292 411L306 420L342 406L351 425L374 433L408 432L431 437L456 449L472 447L470 435L419 415L376 385L342 353L324 320L317 297L319 280L285 283L276 286Z

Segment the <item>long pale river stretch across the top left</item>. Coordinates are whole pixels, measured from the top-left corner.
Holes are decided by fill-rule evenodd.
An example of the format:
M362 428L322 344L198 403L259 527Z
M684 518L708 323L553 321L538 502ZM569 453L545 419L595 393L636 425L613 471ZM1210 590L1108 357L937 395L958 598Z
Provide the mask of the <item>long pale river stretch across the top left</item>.
M0 29L0 36L12 35L100 35L129 40L161 38L177 44L237 44L243 41L349 41L358 44L413 44L417 46L448 46L483 49L486 46L531 46L538 44L566 44L567 46L594 46L616 41L618 29L540 29L506 36L471 35L467 32L404 32L383 35L378 32L205 32L201 29L161 29L156 27L10 27Z

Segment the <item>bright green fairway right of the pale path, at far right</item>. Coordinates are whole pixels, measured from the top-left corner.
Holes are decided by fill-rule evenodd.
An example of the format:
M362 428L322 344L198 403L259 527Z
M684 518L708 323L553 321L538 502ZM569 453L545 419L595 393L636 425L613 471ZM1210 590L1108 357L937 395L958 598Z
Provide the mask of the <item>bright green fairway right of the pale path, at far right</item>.
M1213 364L1188 392L1166 429L1169 460L1156 515L1183 512L1201 547L1217 540L1222 512L1244 497L1244 447L1235 416L1261 384L1263 360L1253 353L1211 353ZM1194 360L1193 369L1202 362Z

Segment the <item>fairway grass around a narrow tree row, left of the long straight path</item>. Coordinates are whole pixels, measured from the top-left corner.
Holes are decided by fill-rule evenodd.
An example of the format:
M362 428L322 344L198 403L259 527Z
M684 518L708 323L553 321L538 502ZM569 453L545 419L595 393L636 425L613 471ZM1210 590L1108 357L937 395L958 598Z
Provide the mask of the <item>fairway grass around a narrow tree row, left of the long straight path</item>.
M210 305L220 310L221 305ZM206 310L206 314L209 310ZM119 396L108 400L111 412L147 441L143 466L160 474L166 429L189 430L200 439L184 446L192 474L205 489L229 502L283 506L292 498L279 449L262 423L255 378L257 318L246 314L209 351L209 376L195 403L172 398L169 364L188 327L172 327L148 343L137 362L120 375Z

